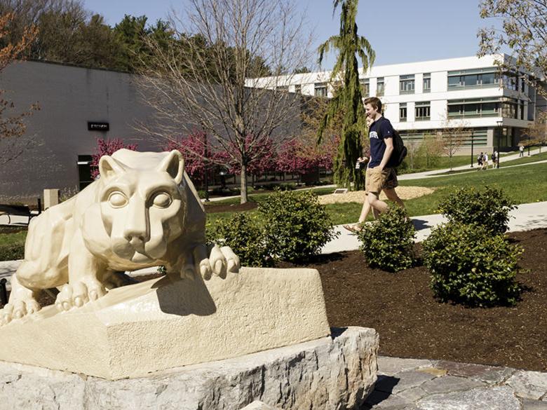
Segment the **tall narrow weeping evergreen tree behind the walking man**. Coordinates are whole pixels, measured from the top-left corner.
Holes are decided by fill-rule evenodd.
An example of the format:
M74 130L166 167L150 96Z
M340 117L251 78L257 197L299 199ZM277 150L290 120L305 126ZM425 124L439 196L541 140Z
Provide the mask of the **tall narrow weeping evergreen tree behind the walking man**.
M340 186L349 187L354 182L354 189L362 189L363 176L355 169L357 158L361 156L363 149L361 144L361 132L365 130L365 109L361 100L359 83L359 71L357 56L363 64L363 71L367 71L369 64L374 62L374 50L363 36L357 34L357 5L358 0L333 0L334 11L341 6L340 32L332 36L319 46L319 64L323 56L330 48L338 50L335 67L330 76L331 83L337 83L343 78L342 87L337 90L335 96L329 102L327 113L318 129L318 141L323 137L323 131L328 127L332 118L342 111L342 134L340 145L335 158L334 178Z

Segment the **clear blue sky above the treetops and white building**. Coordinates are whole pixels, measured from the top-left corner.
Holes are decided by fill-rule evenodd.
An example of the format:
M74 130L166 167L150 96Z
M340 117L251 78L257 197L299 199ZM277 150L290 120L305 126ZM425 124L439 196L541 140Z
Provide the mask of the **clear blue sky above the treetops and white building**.
M313 29L313 46L337 34L339 15L332 0L295 0ZM149 22L165 18L171 8L181 12L184 0L84 0L88 10L115 25L124 14L147 15ZM358 32L376 51L376 65L475 55L477 31L492 20L481 20L478 0L360 0ZM334 55L323 68L330 69Z

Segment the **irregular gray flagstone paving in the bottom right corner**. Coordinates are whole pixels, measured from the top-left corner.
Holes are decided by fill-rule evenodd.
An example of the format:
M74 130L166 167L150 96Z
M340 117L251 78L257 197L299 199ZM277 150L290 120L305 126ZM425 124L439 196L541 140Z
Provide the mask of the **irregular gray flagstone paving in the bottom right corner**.
M380 356L362 409L547 410L547 373Z

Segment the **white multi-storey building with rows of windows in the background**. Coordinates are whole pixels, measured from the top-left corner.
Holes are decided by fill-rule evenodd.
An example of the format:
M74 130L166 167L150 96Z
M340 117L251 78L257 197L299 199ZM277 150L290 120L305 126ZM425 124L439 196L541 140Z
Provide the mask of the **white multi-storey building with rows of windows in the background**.
M409 142L456 124L469 130L461 153L515 148L522 130L546 102L515 74L499 76L497 59L508 55L461 57L361 70L363 95L377 96L384 115ZM288 89L292 93L332 97L330 71L252 78L248 86Z

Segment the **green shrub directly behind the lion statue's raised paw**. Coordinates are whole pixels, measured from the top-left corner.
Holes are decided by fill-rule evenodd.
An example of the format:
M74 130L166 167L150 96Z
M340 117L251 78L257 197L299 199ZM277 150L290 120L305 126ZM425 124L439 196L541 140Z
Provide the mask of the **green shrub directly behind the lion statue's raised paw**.
M242 266L271 266L264 226L254 214L234 214L229 220L217 221L208 239L215 238L220 246L229 246L238 255Z

